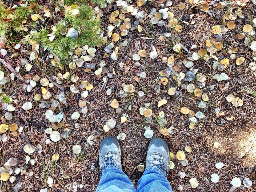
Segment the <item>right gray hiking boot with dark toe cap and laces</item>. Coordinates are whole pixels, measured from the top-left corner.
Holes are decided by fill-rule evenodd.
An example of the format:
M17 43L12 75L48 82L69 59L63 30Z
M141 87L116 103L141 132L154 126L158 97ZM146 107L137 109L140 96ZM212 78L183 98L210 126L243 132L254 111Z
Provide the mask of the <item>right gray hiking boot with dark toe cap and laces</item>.
M147 149L146 168L157 167L168 176L170 154L167 143L161 138L153 138Z

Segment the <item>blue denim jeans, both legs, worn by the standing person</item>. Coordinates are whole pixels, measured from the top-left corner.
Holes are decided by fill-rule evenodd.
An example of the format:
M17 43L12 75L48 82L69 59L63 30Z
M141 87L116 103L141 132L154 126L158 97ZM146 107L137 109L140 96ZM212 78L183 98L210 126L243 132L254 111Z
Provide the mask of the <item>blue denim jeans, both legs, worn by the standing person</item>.
M156 167L145 170L135 190L133 183L121 169L115 165L107 166L102 173L96 192L173 192L169 181Z

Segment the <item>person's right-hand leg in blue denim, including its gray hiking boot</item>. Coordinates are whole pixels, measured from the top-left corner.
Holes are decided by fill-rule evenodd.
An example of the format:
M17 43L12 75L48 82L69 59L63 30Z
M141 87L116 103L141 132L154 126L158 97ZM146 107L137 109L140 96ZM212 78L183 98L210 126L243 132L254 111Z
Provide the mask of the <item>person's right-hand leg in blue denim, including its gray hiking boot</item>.
M167 143L161 138L152 139L147 150L146 170L138 181L137 192L172 192L166 179L169 163Z

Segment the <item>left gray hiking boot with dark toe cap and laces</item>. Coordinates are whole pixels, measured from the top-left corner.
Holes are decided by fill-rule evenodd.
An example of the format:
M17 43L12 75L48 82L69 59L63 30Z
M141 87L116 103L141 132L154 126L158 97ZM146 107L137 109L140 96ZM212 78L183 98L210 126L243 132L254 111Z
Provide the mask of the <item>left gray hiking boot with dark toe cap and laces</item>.
M122 170L121 156L121 148L117 138L105 137L99 148L99 174L102 175L103 170L108 165L116 165Z

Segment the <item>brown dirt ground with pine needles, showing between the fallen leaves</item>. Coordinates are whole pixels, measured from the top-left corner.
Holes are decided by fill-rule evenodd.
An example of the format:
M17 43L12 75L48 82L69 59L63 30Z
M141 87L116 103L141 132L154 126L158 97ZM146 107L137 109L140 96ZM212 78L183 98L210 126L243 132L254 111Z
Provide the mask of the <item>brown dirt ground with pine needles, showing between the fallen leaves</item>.
M134 4L133 2L130 2ZM51 142L46 144L46 140L50 138L50 134L45 133L48 127L51 127L51 123L45 117L45 111L49 110L51 103L54 100L54 95L61 93L61 90L57 86L49 87L51 92L51 98L47 101L41 99L39 101L33 101L33 97L36 93L41 91L40 82L37 82L35 89L31 92L26 91L26 86L29 81L33 79L34 75L38 74L40 78L45 78L46 75L52 77L58 72L62 74L65 70L61 70L58 67L50 65L51 59L39 62L38 65L33 65L31 71L26 71L25 67L21 65L21 59L28 56L19 52L20 55L14 58L10 58L10 55L17 53L17 50L10 48L9 56L5 59L10 65L15 68L21 65L21 71L19 72L22 79L15 78L13 81L5 85L1 85L1 89L4 93L10 96L12 99L17 99L19 102L15 104L16 110L12 112L12 122L18 124L18 127L23 127L23 131L17 135L11 135L11 132L6 133L10 135L10 139L6 142L0 142L1 150L1 166L7 162L11 157L18 159L16 167L20 167L26 170L24 174L15 175L15 182L10 183L8 181L1 181L0 186L2 191L13 191L17 182L21 182L21 188L19 191L40 191L47 188L48 191L72 191L74 182L79 186L82 184L82 188L78 187L78 191L92 192L95 191L99 183L99 165L98 165L98 150L101 140L109 135L117 136L119 133L125 133L126 138L120 141L122 147L122 166L123 171L128 175L131 181L137 186L138 179L142 176L143 172L139 172L137 166L139 164L145 165L147 146L151 139L144 137L144 126L149 125L154 131L153 137L161 137L169 145L170 152L176 154L177 151L185 151L185 146L192 147L192 152L186 154L188 161L187 166L182 166L181 163L174 158L172 161L175 164L174 169L169 171L168 180L173 188L173 191L256 191L255 185L255 172L256 172L256 98L253 92L245 91L243 88L247 87L249 90L255 90L256 82L253 71L248 68L249 63L252 61L252 51L244 43L244 39L238 40L235 36L238 33L242 33L243 26L250 23L250 17L255 18L256 5L251 1L246 4L246 7L242 8L245 18L241 23L237 20L234 21L235 30L227 30L223 34L221 40L223 44L223 51L218 51L216 56L218 58L230 58L230 54L227 50L236 47L236 58L245 57L246 60L242 65L236 65L235 60L230 59L229 67L224 69L223 72L228 74L229 79L225 81L216 81L213 76L218 73L217 70L212 68L212 63L205 63L203 59L194 62L194 67L198 69L199 73L202 73L206 77L205 86L201 88L203 94L208 95L209 101L207 106L203 109L198 108L198 103L202 101L201 97L195 97L194 94L190 94L186 89L182 89L182 86L177 86L177 82L170 77L167 85L161 87L161 93L155 92L155 87L158 84L157 77L159 71L166 70L166 64L162 63L163 57L169 57L175 55L176 62L191 56L194 51L198 51L205 47L206 39L213 38L214 34L211 33L211 28L214 25L221 25L221 19L227 11L227 7L223 8L218 15L211 17L207 12L203 12L200 8L197 10L195 4L190 4L188 9L180 10L179 5L181 2L173 1L173 5L169 7L169 11L174 13L175 18L182 18L183 15L188 14L193 16L189 19L189 22L194 21L194 25L184 25L180 33L171 30L168 26L152 25L149 19L145 21L141 26L142 32L134 30L128 35L121 37L122 41L115 42L116 46L120 46L118 57L125 63L125 67L120 67L117 61L113 61L110 57L103 58L104 47L98 47L94 62L98 69L98 64L101 60L106 61L108 72L95 76L93 72L84 72L83 70L76 70L75 74L80 78L79 81L88 81L93 85L93 89L89 91L89 95L86 98L82 98L80 93L72 93L69 89L73 82L65 81L61 86L63 87L63 93L66 97L67 105L59 103L55 112L61 112L64 115L62 120L63 126L59 129L62 133L65 128L69 129L69 137L61 138L58 142ZM211 2L208 2L209 4ZM137 3L135 3L137 6ZM146 11L149 14L150 9L158 7L158 2L149 2L148 7L139 7L139 10ZM193 8L194 6L194 8ZM158 8L157 8L158 9ZM216 8L210 8L214 11ZM104 36L107 35L106 27L109 25L108 17L111 12L119 10L121 8L110 4L109 7L103 9L104 16L102 18L102 27ZM251 16L250 16L251 15ZM136 21L133 15L127 14L127 18L130 18L132 23ZM255 29L255 28L254 28ZM114 29L113 33L120 33L118 27ZM181 43L186 47L188 51L183 51L181 54L177 54L173 51L171 41L159 41L159 37L164 33L172 33L172 37L178 35L181 38ZM255 37L253 37L255 40ZM128 41L128 48L121 47L124 40ZM111 40L109 40L109 43ZM203 45L202 45L203 44ZM135 65L133 61L133 54L137 53L136 46L140 46L141 49L147 50L147 57L141 58L139 66ZM150 47L154 46L158 52L158 57L151 59L149 57ZM192 45L197 45L197 48L190 50ZM25 46L25 45L23 45ZM13 50L13 51L12 51ZM41 55L49 55L47 51L42 50ZM119 59L118 58L118 59ZM1 65L1 68L7 71L10 75L10 70ZM50 69L50 70L49 70ZM102 78L107 74L112 74L113 69L116 75L113 75L108 79L107 83L103 84ZM128 70L129 69L129 70ZM50 72L49 72L50 71ZM134 80L134 76L145 71L146 78L139 77L139 82ZM189 71L183 64L180 66L178 72L186 73ZM196 79L193 81L197 84ZM226 83L229 83L227 89L223 90ZM122 89L122 84L133 84L136 92L129 93L127 97L120 97L119 91ZM184 84L186 84L184 82ZM211 89L211 86L214 86ZM25 88L24 88L25 87ZM179 94L177 97L168 95L167 91L169 87L176 87ZM106 90L112 89L112 94L107 95ZM38 91L39 90L39 91ZM143 91L143 97L139 97L137 92ZM243 100L243 105L235 107L231 102L227 102L226 96L233 94L235 97L239 97ZM111 101L116 98L119 102L119 107L122 108L122 112L117 114L115 109L110 106ZM158 101L166 99L167 104L162 107L157 107ZM88 112L81 114L77 120L71 119L71 114L78 111L78 101L86 101ZM27 113L22 109L23 103L27 101L33 101L33 108ZM45 108L39 107L39 104L48 105ZM145 117L140 115L139 108L144 106L145 103L150 103L150 109L153 111L152 121L147 122ZM2 103L3 105L3 103ZM131 106L131 109L129 109ZM205 118L198 121L194 129L189 128L189 116L180 112L181 107L186 106L194 112L201 111ZM217 115L215 108L220 108L225 115ZM170 126L178 129L178 132L172 135L164 136L159 133L159 123L156 118L160 111L165 113L165 119L168 122L166 127ZM126 114L127 121L120 122L122 114ZM5 107L1 107L1 120L2 123L6 122L5 119ZM228 121L226 118L233 116L232 121ZM117 120L117 125L110 129L109 132L103 131L105 122L114 118ZM79 125L75 125L78 123ZM87 138L93 135L95 142L90 145L87 142ZM3 137L3 135L2 135ZM218 142L218 146L214 145ZM29 154L30 159L35 160L34 165L26 164L25 157L28 155L23 151L23 146L30 144L37 146L40 144L42 150L36 149L34 153ZM74 145L80 145L82 152L80 154L74 154L72 147ZM52 155L59 154L58 161L52 160ZM221 169L216 169L215 164L222 162L224 166ZM33 175L29 176L29 173L33 171ZM180 178L179 172L185 172L186 177ZM216 173L220 179L218 183L213 183L211 174ZM47 178L53 179L54 183L52 187L47 185ZM233 187L231 180L234 177L250 178L253 185L250 188ZM189 184L190 178L197 178L199 186L196 189L191 188ZM1 191L0 190L0 191Z

